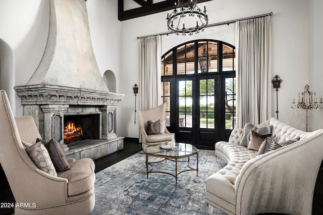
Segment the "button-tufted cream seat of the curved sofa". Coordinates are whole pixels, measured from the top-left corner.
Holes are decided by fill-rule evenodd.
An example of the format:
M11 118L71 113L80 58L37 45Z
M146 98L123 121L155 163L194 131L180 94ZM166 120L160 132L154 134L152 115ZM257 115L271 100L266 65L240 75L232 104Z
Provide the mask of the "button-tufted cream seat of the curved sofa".
M228 180L232 185L235 185L236 178L239 175L242 167L248 160L257 156L258 151L250 150L239 144L230 144L228 142L217 142L216 151L223 152L230 162L217 174Z

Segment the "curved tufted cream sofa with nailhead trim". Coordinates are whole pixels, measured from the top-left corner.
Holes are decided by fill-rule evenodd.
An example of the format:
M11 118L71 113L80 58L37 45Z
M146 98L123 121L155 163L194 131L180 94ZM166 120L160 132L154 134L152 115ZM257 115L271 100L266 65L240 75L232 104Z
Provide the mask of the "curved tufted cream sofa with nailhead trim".
M242 129L234 129L229 142L217 142L216 156L227 166L205 181L209 213L216 207L227 214L311 214L323 129L304 132L275 118L257 127L268 125L273 125L275 142L300 140L258 156L239 145Z

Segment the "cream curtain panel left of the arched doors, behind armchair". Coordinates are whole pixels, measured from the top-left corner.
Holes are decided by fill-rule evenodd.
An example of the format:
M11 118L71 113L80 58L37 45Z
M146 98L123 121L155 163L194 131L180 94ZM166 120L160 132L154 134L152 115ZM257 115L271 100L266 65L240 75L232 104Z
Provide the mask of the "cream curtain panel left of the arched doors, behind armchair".
M139 110L145 111L160 104L161 40L160 35L138 39ZM140 128L139 128L140 129ZM139 130L139 142L141 135Z

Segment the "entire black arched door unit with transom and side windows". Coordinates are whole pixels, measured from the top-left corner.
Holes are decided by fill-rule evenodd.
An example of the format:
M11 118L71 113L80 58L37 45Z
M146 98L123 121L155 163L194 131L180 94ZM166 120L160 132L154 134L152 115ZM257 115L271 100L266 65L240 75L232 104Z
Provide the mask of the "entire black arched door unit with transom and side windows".
M173 47L161 58L161 103L176 140L214 149L235 126L235 49L217 40Z

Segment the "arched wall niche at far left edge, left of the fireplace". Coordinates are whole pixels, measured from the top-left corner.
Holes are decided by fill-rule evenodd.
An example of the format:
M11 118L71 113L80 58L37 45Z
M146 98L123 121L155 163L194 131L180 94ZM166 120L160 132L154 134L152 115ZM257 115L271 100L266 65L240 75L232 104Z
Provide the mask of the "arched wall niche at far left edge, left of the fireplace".
M15 68L13 50L0 38L0 89L6 90L13 113L16 113L14 80Z

